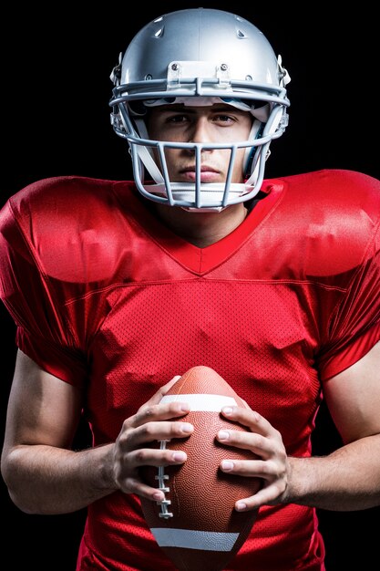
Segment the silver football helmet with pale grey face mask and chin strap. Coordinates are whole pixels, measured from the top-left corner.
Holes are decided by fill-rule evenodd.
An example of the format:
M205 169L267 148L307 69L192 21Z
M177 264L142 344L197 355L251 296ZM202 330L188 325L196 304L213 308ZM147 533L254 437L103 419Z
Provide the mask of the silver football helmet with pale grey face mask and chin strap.
M262 32L241 16L208 8L171 12L144 26L120 54L111 80L111 123L128 141L133 176L149 200L187 210L221 210L259 192L272 139L288 123L290 81ZM205 99L207 98L207 99ZM252 113L248 140L229 143L149 139L149 107L215 101ZM165 151L187 149L195 156L195 182L169 179ZM245 182L231 182L239 149L245 149ZM201 182L202 151L230 150L226 182Z

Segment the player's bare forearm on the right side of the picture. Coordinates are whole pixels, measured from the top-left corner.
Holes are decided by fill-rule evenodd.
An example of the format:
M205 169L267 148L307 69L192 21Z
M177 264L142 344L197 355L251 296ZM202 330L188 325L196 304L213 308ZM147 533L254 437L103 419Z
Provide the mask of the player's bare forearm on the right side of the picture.
M287 503L335 511L380 504L380 435L351 442L328 456L289 462Z

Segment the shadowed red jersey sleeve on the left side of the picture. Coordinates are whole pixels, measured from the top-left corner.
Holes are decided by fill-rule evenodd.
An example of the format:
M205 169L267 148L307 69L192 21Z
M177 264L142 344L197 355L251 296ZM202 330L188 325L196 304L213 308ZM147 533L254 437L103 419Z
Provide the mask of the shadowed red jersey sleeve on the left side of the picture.
M0 211L0 297L15 320L18 348L58 379L80 385L86 359L39 263L32 234L19 223L10 199Z

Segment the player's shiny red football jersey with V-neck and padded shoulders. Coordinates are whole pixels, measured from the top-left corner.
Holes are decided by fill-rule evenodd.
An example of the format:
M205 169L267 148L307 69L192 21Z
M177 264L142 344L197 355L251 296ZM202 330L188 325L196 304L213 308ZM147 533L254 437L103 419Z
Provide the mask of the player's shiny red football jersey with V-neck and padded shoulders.
M321 381L380 338L380 182L318 171L262 185L243 223L199 248L170 232L132 182L47 179L1 212L0 293L17 345L85 385L94 445L160 385L195 365L218 371L311 454ZM320 571L315 510L265 506L229 570ZM77 570L171 570L139 497L89 505Z

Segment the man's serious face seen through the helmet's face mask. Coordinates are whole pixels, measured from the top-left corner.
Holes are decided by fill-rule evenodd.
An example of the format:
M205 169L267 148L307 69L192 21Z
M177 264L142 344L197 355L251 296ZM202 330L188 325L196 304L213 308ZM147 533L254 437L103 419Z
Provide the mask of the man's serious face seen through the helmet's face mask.
M231 143L248 140L252 115L225 103L207 107L163 105L149 110L148 132L153 140L173 142ZM231 182L243 182L245 149L236 153ZM195 153L189 149L165 151L172 182L195 181ZM200 182L225 182L231 157L229 149L201 152Z

